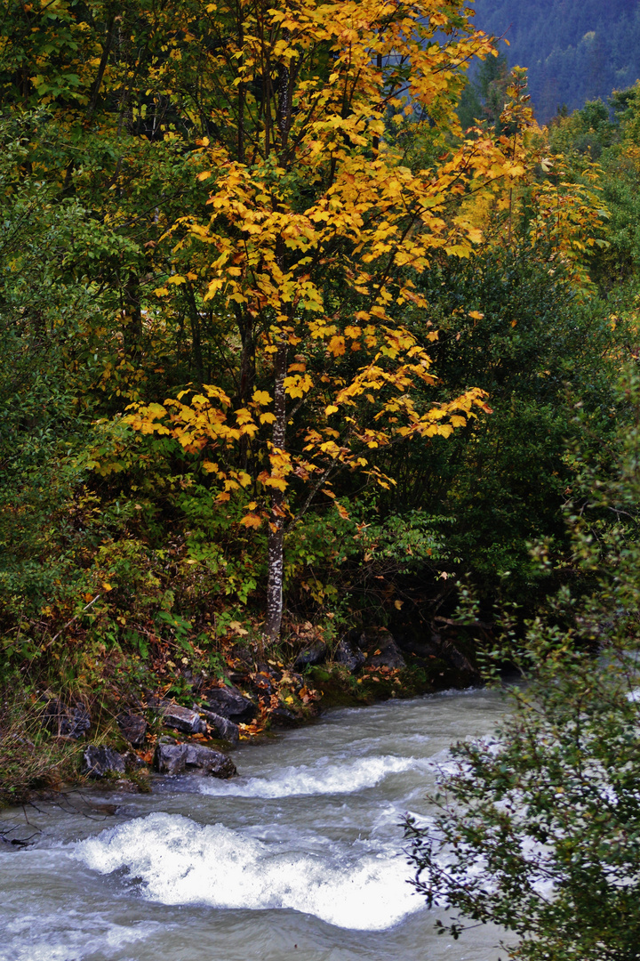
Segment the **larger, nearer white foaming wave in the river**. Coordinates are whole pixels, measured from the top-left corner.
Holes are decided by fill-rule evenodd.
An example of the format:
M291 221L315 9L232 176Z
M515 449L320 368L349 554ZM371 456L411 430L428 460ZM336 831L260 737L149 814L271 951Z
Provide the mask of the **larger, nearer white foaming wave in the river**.
M291 908L363 931L385 930L423 907L402 857L282 850L180 815L151 814L110 828L80 842L73 856L104 875L126 869L146 898L164 904Z

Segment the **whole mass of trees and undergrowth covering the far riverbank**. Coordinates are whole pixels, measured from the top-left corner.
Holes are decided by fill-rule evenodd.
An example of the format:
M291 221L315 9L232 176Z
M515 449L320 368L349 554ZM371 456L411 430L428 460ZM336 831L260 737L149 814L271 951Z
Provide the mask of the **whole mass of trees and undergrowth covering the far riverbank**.
M590 596L566 517L635 423L637 86L540 128L458 0L55 0L9 4L0 96L7 783L61 744L16 691L117 739L246 683L250 736L322 685L478 678L505 605L522 636Z

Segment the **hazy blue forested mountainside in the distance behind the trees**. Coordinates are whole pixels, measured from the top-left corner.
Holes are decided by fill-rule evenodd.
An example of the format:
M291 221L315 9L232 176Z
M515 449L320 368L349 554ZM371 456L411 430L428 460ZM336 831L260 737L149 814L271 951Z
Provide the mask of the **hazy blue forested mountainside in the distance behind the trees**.
M529 67L538 120L640 78L640 0L475 0L475 25L510 40L509 65Z

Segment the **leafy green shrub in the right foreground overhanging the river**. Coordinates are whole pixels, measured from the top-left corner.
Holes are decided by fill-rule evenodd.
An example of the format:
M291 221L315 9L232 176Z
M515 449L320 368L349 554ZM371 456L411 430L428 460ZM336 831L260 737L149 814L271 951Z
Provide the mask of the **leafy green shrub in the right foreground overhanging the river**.
M637 375L625 392L637 411ZM561 592L555 617L493 652L526 686L510 688L494 739L453 749L429 825L406 823L416 890L515 932L512 958L640 957L639 442L636 421L618 477L582 479L587 503L571 523L596 591L580 604ZM611 510L619 522L605 529Z

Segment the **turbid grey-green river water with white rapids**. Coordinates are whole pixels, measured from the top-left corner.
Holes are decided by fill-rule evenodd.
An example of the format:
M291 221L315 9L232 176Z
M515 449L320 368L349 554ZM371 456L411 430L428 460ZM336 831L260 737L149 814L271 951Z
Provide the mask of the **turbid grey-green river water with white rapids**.
M241 748L233 780L31 811L35 843L0 851L0 959L497 961L495 930L437 935L447 911L407 883L399 823L504 709L477 690L333 710ZM113 816L85 807L106 800Z

